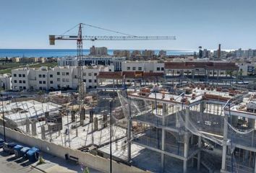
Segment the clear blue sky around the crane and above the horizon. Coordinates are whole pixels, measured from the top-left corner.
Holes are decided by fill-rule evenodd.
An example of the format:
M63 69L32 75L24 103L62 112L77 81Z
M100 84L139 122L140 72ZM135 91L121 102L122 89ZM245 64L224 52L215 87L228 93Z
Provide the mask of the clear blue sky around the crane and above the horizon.
M131 35L176 35L177 40L98 41L116 49L256 48L255 0L0 0L0 48L76 48L48 45L80 22ZM74 30L69 34L77 35ZM83 28L84 35L115 35Z

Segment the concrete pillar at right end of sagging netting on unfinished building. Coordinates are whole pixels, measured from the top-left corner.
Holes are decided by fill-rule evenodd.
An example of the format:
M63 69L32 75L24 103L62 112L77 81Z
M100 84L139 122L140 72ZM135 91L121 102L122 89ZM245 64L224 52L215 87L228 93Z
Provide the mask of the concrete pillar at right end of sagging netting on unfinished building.
M224 127L223 127L223 146L222 146L222 163L221 171L226 171L226 150L227 150L227 141L228 141L228 115L225 115Z

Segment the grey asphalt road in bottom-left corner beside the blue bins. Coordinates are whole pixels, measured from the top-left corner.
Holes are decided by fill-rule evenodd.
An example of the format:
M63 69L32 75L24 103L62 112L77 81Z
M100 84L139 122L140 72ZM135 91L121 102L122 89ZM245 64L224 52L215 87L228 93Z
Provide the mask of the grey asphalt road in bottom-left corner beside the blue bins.
M0 149L0 173L42 173L38 169L30 167L27 161L15 159L14 155L9 156L3 149Z

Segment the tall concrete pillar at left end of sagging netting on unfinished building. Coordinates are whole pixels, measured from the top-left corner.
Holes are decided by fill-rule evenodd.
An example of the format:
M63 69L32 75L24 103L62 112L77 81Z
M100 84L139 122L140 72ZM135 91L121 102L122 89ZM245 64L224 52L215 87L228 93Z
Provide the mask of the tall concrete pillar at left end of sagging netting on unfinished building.
M185 115L185 127L188 127L189 123L189 107L186 107L186 115ZM183 172L187 172L187 156L189 153L189 132L187 128L184 133L184 161L183 161Z

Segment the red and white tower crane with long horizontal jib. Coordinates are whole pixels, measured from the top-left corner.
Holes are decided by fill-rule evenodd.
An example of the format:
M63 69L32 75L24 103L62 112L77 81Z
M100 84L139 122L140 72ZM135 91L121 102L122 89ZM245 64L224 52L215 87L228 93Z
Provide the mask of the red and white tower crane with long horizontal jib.
M88 27L95 27L101 30L107 30L109 32L115 32L117 34L126 35L126 36L88 36L82 35L82 26ZM85 95L85 86L82 81L82 40L176 40L175 36L135 36L135 35L128 35L123 32L117 32L114 30L108 30L102 27L96 27L93 25L87 25L80 23L76 25L78 26L78 34L77 35L64 35L65 33L69 32L70 30L74 29L74 27L67 32L64 32L63 35L49 35L50 45L55 45L55 40L76 40L77 41L77 60L78 60L78 91L79 91L79 99L80 99L80 106L83 104L83 99Z

